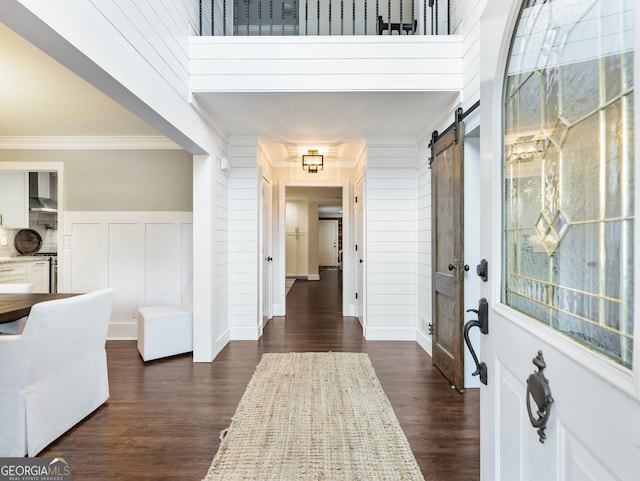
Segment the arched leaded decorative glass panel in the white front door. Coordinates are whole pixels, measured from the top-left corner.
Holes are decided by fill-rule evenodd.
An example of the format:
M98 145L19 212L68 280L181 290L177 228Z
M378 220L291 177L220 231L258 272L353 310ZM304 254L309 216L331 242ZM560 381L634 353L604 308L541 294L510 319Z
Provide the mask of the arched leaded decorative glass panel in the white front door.
M633 8L525 0L503 99L503 301L628 368Z

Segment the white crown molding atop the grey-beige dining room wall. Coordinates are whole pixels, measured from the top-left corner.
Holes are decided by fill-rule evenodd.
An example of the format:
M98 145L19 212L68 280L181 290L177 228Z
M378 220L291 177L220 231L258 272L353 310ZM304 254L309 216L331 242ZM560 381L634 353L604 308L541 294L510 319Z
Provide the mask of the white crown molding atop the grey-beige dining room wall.
M2 150L177 150L161 135L0 136Z

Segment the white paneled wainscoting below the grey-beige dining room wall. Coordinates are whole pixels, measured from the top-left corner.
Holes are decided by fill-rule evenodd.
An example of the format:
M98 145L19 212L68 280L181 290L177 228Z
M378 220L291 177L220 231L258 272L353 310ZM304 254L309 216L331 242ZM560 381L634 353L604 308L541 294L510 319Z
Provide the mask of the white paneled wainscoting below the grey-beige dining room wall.
M110 339L135 339L138 307L179 303L193 269L191 212L65 212L64 292L116 290Z

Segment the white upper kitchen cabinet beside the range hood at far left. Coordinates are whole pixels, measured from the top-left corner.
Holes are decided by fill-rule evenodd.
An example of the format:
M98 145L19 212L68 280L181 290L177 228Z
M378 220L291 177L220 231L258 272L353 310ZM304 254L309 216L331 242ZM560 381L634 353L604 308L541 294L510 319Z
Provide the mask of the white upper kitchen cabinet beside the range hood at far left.
M29 178L27 172L0 171L0 227L29 227Z

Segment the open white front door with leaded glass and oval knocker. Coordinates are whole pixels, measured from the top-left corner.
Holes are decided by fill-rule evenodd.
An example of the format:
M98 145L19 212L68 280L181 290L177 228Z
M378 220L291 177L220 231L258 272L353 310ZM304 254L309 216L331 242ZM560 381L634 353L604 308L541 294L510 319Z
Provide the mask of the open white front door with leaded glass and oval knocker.
M481 479L637 480L634 2L526 3L489 0L480 28Z

